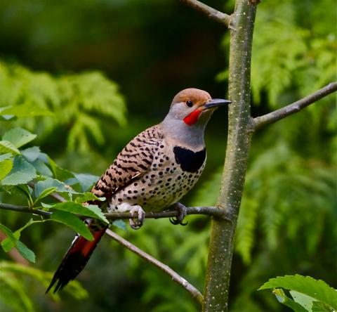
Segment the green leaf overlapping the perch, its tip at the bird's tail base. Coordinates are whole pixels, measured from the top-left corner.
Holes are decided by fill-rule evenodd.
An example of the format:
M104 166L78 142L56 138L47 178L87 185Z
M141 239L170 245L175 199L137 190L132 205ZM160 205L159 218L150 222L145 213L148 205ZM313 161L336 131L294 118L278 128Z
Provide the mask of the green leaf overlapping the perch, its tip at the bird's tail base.
M82 204L78 204L77 202L59 202L58 204L54 204L52 208L55 210L61 210L63 212L71 212L72 214L90 216L91 218L100 219L105 223L109 223L109 221L107 221L107 219L105 218L102 210L100 210L97 206L93 204L83 206Z

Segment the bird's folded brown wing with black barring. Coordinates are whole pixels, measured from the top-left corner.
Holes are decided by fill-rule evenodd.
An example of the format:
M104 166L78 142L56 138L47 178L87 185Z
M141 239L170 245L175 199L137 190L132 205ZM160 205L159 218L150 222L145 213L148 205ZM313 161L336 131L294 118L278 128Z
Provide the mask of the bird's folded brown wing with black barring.
M150 169L154 154L160 148L162 140L163 136L158 126L152 126L138 134L121 150L91 192L108 199L143 176Z

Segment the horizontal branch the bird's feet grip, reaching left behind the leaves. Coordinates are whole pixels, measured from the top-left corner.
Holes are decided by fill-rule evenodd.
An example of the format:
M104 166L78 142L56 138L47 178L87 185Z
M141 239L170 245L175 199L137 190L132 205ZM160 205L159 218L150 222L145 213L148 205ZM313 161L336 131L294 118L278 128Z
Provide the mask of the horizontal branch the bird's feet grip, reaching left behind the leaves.
M59 201L62 202L64 198L59 196ZM61 200L61 198L63 200ZM13 212L27 212L29 214L37 214L39 216L49 217L53 212L45 212L41 209L32 209L28 206L17 206L15 204L3 204L0 203L0 209L12 210ZM226 219L223 211L221 211L218 207L186 207L187 214L204 214L213 216L219 219ZM77 215L80 218L86 219L87 216ZM146 219L161 219L161 218L169 218L172 216L178 216L178 212L176 210L170 210L166 212L147 212L145 213ZM119 220L119 219L130 219L132 218L131 214L128 212L120 212L120 213L107 213L105 217L108 220Z

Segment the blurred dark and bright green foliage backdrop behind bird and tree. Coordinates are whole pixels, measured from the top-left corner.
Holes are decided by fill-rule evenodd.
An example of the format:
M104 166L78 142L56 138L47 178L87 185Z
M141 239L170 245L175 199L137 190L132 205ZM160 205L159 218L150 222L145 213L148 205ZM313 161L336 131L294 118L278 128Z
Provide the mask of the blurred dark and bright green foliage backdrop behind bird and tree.
M227 13L234 7L234 1L205 2ZM333 0L259 4L254 117L336 80L334 26ZM0 134L25 127L61 167L100 175L133 136L164 118L181 89L226 96L228 51L227 30L178 0L3 0L0 106L34 103L55 114L1 122ZM332 95L253 137L230 311L285 311L270 292L256 291L277 275L311 275L337 287L336 117ZM206 131L208 164L184 204L216 203L226 124L227 112L218 110ZM15 230L29 216L1 211L0 218ZM138 231L113 230L203 290L210 220L188 221L181 227L147 220ZM73 236L55 224L26 230L22 241L37 254L31 267L54 271ZM0 259L13 261L2 251ZM88 296L72 290L51 298L38 274L3 271L11 283L0 276L0 311L198 311L180 286L109 238L79 275Z

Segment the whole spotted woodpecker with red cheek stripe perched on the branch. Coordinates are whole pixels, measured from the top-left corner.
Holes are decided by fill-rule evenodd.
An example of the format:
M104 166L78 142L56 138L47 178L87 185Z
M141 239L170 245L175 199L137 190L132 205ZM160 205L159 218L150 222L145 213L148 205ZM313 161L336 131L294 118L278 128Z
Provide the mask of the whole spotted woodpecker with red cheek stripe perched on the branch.
M230 100L212 99L200 89L184 89L174 96L164 120L133 138L93 186L91 193L105 197L107 212L129 212L133 229L143 225L145 212L168 207L178 210L171 223L185 225L186 207L179 202L197 183L206 164L204 131L216 108ZM91 201L86 204L102 202ZM107 230L107 224L86 220L89 241L77 235L53 275L46 293L62 290L83 270Z

